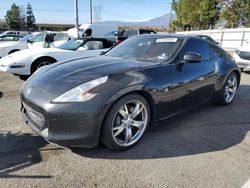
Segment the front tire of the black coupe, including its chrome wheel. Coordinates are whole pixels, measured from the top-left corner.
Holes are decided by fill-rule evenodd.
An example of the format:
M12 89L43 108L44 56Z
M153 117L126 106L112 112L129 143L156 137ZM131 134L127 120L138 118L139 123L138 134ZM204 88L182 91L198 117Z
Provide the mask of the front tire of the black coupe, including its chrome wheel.
M137 94L122 97L107 112L101 141L111 150L127 150L143 137L150 123L150 107Z

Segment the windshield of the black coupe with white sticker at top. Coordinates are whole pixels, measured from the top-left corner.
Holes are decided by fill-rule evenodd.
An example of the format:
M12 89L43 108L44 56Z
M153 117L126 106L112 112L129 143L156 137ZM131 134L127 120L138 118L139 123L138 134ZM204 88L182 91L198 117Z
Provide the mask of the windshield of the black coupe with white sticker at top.
M171 36L131 37L106 53L108 56L163 62L173 57L183 39Z

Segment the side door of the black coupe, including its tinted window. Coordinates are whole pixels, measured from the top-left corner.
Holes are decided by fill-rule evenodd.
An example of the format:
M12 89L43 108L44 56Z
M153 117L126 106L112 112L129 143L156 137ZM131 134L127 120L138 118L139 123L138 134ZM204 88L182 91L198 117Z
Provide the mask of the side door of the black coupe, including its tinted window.
M202 60L199 62L182 61L188 52L200 54ZM173 87L179 88L182 94L185 94L183 108L190 108L211 99L216 74L208 42L198 38L187 39L178 59L173 67ZM173 93L173 99L177 94Z

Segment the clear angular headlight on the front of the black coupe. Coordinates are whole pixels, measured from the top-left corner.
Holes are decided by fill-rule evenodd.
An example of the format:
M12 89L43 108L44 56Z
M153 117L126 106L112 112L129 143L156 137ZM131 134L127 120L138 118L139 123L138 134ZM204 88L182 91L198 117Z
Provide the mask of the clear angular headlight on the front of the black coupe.
M108 76L104 76L82 85L79 85L59 97L55 98L52 102L61 103L61 102L84 102L92 99L97 94L91 93L90 91L96 88L97 86L107 82Z

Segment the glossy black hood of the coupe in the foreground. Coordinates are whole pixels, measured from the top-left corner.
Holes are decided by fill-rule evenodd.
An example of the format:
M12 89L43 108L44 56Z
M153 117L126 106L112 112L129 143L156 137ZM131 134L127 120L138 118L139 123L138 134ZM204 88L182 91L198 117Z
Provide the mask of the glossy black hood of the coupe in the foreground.
M55 63L38 70L27 81L31 87L54 96L90 80L155 65L155 62L99 56Z

